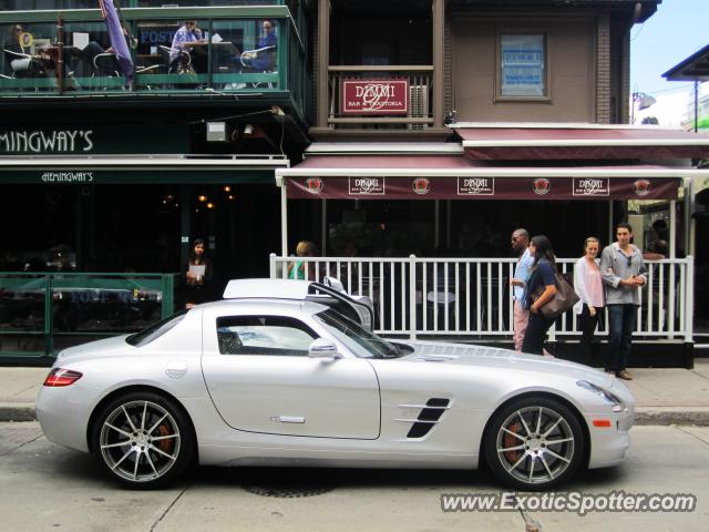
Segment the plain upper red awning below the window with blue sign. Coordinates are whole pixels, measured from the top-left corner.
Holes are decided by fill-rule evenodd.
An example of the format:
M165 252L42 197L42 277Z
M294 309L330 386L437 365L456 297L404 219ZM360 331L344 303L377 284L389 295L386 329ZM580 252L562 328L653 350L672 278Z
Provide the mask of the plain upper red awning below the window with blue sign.
M668 160L709 156L709 135L656 126L456 126L480 161Z

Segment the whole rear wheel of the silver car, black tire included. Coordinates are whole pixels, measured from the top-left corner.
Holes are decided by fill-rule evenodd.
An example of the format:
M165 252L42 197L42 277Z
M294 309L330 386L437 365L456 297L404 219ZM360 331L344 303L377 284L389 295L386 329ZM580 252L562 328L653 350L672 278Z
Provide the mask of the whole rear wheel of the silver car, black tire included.
M92 448L110 477L131 489L154 489L178 478L195 456L192 423L173 400L150 391L105 405Z

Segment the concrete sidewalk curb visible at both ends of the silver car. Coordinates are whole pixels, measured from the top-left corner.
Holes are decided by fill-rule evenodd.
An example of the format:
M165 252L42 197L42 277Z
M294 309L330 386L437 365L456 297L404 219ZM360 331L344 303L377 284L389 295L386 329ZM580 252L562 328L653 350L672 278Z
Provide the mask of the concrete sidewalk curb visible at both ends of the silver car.
M0 422L19 421L37 421L34 403L0 403ZM709 427L709 408L640 408L635 411L635 424L695 424L698 427Z

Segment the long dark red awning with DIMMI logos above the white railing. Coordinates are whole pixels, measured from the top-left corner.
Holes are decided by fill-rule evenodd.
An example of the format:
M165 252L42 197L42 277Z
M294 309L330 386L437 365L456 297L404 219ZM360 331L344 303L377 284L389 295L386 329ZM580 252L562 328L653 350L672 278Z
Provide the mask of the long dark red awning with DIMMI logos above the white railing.
M289 198L676 200L693 168L492 166L463 155L316 155L280 168Z

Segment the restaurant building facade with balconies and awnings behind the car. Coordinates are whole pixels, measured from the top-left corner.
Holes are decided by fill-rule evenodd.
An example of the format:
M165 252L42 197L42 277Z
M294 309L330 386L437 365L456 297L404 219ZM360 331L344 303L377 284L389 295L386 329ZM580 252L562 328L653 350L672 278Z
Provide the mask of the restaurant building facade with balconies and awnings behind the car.
M204 238L217 296L228 278L276 275L268 254L285 264L310 239L323 260L456 259L458 270L441 266L451 278L465 260L484 262L500 273L441 289L458 300L458 325L444 313L438 327L439 299L432 332L504 344L516 227L548 235L571 260L587 236L608 242L628 218L646 247L661 218L667 256L692 252L686 183L709 142L627 125L629 32L659 0L130 0L121 18L132 83L93 2L33 3L0 13L0 216L13 228L0 270L10 288L20 283L10 274L38 283L48 270L173 274L178 285ZM380 291L379 330L415 334L427 316L431 332L425 301L440 283L429 290L379 264L377 279L373 266L368 279L357 273L361 291ZM687 272L658 265L644 321L681 360L691 334L680 308L691 298L674 283ZM405 288L384 294L394 278L413 286L404 303L392 298ZM495 297L462 297L475 282ZM0 313L10 350L22 351L12 338L23 330L37 334L34 351L58 327L71 341L110 331L84 320L105 299L85 279L33 297L22 283ZM658 306L660 293L672 303ZM132 310L131 297L129 309L111 307L117 328L155 317Z

